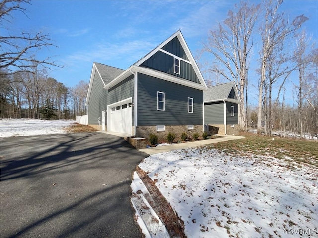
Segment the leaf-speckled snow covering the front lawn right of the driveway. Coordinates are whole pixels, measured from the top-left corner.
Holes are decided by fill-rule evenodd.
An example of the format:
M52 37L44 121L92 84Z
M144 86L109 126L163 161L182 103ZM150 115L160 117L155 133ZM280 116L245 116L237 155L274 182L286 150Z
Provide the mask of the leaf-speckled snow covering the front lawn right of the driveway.
M139 167L158 179L188 237L317 237L318 172L289 159L202 147L152 155Z

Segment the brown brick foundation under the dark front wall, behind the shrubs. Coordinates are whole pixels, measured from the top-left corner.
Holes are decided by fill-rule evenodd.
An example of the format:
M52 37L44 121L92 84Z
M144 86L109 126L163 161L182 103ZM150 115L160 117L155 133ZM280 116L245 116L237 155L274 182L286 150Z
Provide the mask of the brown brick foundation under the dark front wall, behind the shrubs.
M150 134L155 134L158 136L158 143L162 141L167 141L167 135L171 132L175 135L174 141L181 140L181 135L183 132L188 134L188 137L193 137L194 133L198 133L199 138L202 139L203 125L194 125L193 130L188 130L187 125L166 125L164 132L157 132L156 126L137 126L136 136L143 137L148 140Z

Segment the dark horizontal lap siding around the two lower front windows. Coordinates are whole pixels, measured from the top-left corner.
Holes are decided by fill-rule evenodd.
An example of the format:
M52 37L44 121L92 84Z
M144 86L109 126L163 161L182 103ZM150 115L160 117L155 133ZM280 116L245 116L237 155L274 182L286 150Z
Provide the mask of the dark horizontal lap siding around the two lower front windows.
M165 111L157 110L157 92L165 93ZM188 113L188 97L193 113ZM202 125L203 92L138 73L138 126Z

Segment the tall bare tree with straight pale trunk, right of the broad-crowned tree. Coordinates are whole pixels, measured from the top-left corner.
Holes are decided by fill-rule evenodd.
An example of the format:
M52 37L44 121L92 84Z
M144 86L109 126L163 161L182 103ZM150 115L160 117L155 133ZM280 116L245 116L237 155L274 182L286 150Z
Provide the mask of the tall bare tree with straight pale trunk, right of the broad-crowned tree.
M289 36L294 34L301 25L308 20L304 15L297 16L290 24L288 19L285 18L284 13L279 13L278 9L283 3L282 0L278 1L263 1L265 10L264 22L260 27L262 37L262 50L261 50L261 77L259 83L259 98L258 98L258 119L257 129L261 130L262 121L262 103L263 103L263 88L266 80L266 72L268 71L268 61L278 48L287 40ZM265 85L267 87L267 85ZM265 120L266 121L266 120ZM267 128L265 126L265 133Z

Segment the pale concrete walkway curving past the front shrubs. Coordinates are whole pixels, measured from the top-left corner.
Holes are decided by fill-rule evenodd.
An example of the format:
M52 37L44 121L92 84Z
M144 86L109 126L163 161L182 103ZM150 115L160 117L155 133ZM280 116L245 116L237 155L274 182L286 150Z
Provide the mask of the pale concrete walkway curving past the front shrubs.
M190 147L203 146L203 145L218 143L222 141L238 140L238 139L245 138L244 136L234 136L234 135L218 135L218 136L222 136L222 137L215 138L215 139L208 139L208 140L198 140L193 142L176 143L176 144L165 145L165 146L151 147L146 149L140 149L139 151L147 153L149 155L153 155L153 154L158 154L158 153L167 152L171 150L187 149Z

